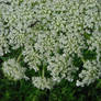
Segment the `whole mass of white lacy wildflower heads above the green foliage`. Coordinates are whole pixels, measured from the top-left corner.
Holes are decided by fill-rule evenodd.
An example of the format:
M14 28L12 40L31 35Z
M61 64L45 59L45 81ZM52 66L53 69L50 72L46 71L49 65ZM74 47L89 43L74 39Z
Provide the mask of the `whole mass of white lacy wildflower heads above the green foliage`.
M61 79L89 86L101 77L100 1L0 0L0 57L19 48L2 63L8 78L40 89Z

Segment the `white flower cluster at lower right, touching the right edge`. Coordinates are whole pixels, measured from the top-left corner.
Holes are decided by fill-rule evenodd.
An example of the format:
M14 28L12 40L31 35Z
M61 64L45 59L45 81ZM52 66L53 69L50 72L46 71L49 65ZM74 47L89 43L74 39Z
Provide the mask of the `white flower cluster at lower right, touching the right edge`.
M79 74L80 80L77 80L77 86L89 86L101 76L101 68L98 66L98 63L96 60L86 61L83 64L83 68L85 69Z

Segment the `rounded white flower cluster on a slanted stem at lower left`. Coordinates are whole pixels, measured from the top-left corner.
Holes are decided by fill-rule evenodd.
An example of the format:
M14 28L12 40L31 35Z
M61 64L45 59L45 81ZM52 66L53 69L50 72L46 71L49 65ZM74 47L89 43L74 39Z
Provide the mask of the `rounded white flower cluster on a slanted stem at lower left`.
M25 76L25 68L21 67L15 59L9 59L4 61L2 65L2 70L9 79L19 80L19 79L26 79Z

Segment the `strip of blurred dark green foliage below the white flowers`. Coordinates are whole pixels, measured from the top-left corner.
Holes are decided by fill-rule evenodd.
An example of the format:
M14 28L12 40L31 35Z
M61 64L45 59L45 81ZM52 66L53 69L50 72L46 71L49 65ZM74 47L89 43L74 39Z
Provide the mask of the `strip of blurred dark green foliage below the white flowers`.
M61 81L50 91L42 91L24 80L13 82L0 78L0 101L101 101L100 93L101 80L85 88Z

